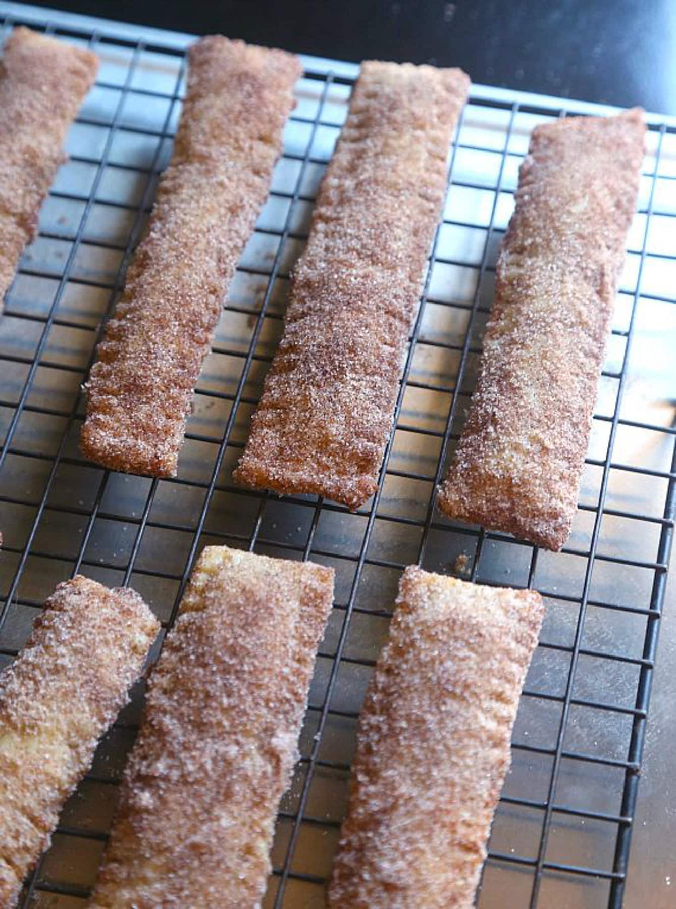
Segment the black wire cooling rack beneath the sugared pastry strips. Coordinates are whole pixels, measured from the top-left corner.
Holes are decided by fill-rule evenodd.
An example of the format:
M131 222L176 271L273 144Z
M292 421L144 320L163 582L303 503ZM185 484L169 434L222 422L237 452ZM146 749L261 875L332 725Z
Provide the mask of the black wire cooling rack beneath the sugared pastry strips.
M0 24L6 33L16 20L0 18ZM91 46L104 64L0 323L3 661L20 649L55 584L76 572L131 584L166 629L204 544L333 565L336 604L313 679L301 760L279 815L264 903L322 905L355 722L401 570L417 562L482 583L534 586L546 597L547 619L515 726L512 772L479 905L621 905L676 475L671 410L646 421L625 415L622 402L641 314L650 321L651 307L658 307L660 320L676 302L665 291L676 250L653 230L662 219L671 226L676 215L676 129L651 128L581 504L571 541L553 555L446 521L435 511L434 490L472 390L496 248L528 135L533 124L567 111L481 98L465 109L403 369L396 431L378 492L350 514L314 496L279 500L244 490L231 474L281 331L289 268L307 234L352 80L318 66L299 83L270 198L198 385L178 477L111 474L77 452L80 385L168 161L184 53L155 39L117 37L113 25L92 33L46 19L29 24ZM142 688L66 805L22 905L84 904Z

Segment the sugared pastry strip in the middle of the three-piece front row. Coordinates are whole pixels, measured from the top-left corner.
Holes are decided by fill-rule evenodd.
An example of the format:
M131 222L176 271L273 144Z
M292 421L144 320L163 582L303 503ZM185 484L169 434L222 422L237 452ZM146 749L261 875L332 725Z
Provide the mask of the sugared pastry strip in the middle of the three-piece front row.
M204 549L151 676L92 907L259 904L333 569Z

